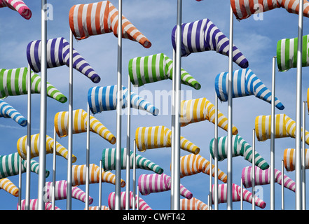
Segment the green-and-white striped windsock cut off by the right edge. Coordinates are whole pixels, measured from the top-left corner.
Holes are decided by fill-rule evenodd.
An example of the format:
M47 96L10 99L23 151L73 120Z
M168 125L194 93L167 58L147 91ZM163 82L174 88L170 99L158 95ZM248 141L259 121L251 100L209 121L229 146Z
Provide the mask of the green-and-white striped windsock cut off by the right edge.
M277 65L279 71L297 68L298 38L284 38L277 43ZM303 67L309 66L309 35L303 36Z

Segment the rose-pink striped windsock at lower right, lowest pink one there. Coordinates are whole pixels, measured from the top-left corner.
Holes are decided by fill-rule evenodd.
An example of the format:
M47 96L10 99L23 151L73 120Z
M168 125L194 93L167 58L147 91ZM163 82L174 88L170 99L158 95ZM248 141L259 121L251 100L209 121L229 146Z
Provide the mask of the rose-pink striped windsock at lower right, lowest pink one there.
M212 190L214 190L214 185L212 185ZM240 193L241 188L236 184L232 184L232 200L233 202L240 202ZM218 203L226 203L228 197L228 185L219 184L218 185ZM242 198L245 202L249 202L252 204L252 193L249 190L242 189ZM259 197L254 197L255 205L264 209L266 207L266 202L263 202ZM214 194L212 195L212 200L214 201Z

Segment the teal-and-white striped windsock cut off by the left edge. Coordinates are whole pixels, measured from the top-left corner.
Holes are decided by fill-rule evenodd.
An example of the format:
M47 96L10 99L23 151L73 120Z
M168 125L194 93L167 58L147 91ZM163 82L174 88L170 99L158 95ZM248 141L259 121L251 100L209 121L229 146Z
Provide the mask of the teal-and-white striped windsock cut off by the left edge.
M0 155L0 179L18 175L20 160L22 160L21 172L25 173L27 172L27 160L20 158L18 153ZM39 162L30 160L30 170L31 172L39 174ZM49 176L49 171L47 169L45 176Z

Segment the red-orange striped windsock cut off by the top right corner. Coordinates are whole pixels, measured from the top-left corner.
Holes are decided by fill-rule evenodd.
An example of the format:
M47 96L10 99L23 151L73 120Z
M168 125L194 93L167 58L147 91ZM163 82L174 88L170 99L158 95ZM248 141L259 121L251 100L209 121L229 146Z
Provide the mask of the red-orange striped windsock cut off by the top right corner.
M299 0L231 0L233 13L238 20L249 18L256 13L264 13L274 8L285 8L289 13L298 14ZM303 0L303 16L309 17L309 2Z

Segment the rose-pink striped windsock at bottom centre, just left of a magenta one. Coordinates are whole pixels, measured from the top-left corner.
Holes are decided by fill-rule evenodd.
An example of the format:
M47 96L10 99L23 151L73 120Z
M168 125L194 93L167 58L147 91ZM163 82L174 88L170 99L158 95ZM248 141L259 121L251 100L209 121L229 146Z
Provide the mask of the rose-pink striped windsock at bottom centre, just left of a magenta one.
M126 193L121 192L121 210L125 210L125 197ZM133 193L130 191L130 209L133 208ZM109 194L109 209L110 210L115 210L115 192L112 192ZM135 209L137 209L137 203L139 203L139 208L138 210L152 210L151 207L142 199L142 197L139 197L139 201L137 202L137 195L135 195Z

